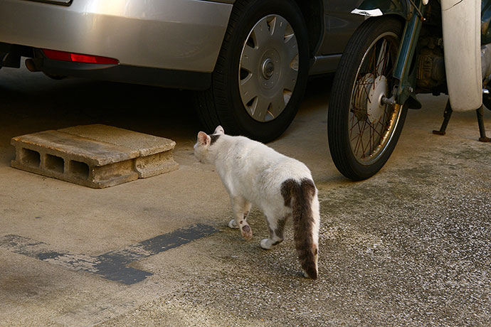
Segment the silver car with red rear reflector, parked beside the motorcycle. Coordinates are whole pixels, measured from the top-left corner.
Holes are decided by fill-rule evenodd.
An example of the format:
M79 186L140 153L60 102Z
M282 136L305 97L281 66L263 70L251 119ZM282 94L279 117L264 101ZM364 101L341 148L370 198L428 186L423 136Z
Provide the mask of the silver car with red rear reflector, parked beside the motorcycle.
M204 127L270 141L332 73L354 0L0 0L0 68L196 90Z

